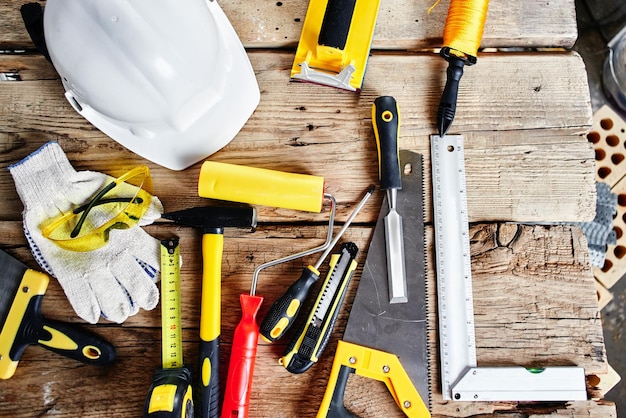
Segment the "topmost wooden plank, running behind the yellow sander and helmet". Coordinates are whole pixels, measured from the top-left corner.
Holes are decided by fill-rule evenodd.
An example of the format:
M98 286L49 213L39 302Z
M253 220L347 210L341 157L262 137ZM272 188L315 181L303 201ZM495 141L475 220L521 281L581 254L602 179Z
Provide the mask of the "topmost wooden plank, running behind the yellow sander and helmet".
M40 2L45 6L45 2ZM248 48L294 48L300 39L307 0L219 2ZM441 47L450 4L441 1L384 0L381 2L373 47L375 49L429 49ZM32 48L19 14L23 2L0 4L0 48ZM485 24L485 47L566 47L577 37L574 0L550 2L492 0Z

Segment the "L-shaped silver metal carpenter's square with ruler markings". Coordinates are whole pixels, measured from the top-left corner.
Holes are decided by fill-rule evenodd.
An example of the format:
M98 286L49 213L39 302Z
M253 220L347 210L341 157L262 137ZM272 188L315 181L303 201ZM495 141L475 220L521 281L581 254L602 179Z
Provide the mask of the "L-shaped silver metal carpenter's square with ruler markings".
M586 400L581 367L476 367L463 136L432 135L430 148L443 398Z

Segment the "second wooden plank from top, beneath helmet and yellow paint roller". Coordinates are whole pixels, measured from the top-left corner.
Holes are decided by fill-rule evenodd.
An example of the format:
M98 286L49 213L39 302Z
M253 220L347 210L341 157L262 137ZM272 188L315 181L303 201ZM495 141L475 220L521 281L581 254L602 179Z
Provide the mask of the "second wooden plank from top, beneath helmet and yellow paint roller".
M239 135L211 159L323 176L328 191L340 200L340 214L347 216L347 206L369 184L377 184L370 109L377 96L391 94L402 114L400 146L424 154L429 172L429 135L436 131L433 109L445 72L438 56L373 55L359 95L290 82L288 53L250 56L261 103ZM0 57L0 68L25 68L30 80L49 66L35 58L19 62ZM561 77L563 73L569 77ZM78 115L57 80L0 83L0 120L3 167L49 140L60 141L77 169L119 172L146 163ZM590 125L589 92L578 55L485 55L480 65L465 72L452 127L466 138L470 221L593 219L594 153L583 136ZM148 165L167 210L202 203L195 197L200 164L183 172ZM188 192L181 196L180 190ZM0 191L15 193L6 170L0 171ZM14 199L0 206L0 217L16 219L20 210ZM373 221L376 214L369 204L360 220ZM320 222L325 218L261 209L262 221L276 215Z

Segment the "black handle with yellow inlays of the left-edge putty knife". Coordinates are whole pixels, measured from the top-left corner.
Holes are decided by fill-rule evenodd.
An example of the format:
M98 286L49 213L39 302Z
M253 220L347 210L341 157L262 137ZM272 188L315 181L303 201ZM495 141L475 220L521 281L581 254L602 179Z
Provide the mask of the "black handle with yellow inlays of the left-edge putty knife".
M31 344L86 364L106 366L115 360L115 347L100 336L75 325L41 315L43 295L30 299L9 356L19 360Z

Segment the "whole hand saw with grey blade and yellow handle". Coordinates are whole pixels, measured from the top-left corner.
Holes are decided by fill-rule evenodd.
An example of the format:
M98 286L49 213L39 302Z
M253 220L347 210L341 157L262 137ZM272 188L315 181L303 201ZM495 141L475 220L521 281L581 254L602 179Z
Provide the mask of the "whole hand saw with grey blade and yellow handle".
M397 204L405 214L403 236L409 255L406 273L411 303L390 303L381 292L387 273L383 205L318 417L345 416L343 396L350 373L383 381L407 416L430 416L423 161L420 154L404 150L400 151L400 161L407 168Z

